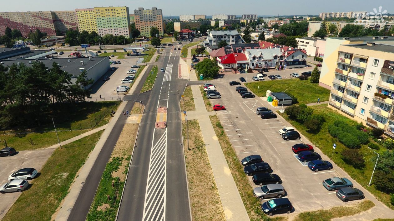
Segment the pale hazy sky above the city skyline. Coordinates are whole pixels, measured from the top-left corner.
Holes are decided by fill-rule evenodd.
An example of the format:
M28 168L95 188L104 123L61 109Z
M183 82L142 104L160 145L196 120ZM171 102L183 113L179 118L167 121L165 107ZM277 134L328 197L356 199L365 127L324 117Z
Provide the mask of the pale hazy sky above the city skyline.
M2 0L5 1L5 0ZM164 16L178 15L319 15L321 12L387 10L394 14L393 0L379 1L346 1L346 0L18 0L17 4L1 4L1 12L12 11L66 11L76 8L93 8L108 6L127 6L130 14L134 9L157 7L163 10Z

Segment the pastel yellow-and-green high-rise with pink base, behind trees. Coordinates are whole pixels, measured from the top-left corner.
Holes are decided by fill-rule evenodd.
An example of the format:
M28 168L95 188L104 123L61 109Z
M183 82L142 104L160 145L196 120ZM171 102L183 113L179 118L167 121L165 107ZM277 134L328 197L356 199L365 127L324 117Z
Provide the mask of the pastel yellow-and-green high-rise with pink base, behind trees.
M130 14L128 7L94 7L97 30L100 36L106 34L130 37Z

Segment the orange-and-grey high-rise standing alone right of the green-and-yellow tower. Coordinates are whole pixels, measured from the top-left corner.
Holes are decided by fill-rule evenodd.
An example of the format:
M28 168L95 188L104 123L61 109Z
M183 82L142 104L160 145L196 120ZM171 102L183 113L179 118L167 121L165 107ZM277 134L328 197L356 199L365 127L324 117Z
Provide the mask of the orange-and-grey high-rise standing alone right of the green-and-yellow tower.
M138 8L134 10L136 28L141 36L151 37L151 27L157 27L160 35L164 35L163 11L152 7L152 9Z

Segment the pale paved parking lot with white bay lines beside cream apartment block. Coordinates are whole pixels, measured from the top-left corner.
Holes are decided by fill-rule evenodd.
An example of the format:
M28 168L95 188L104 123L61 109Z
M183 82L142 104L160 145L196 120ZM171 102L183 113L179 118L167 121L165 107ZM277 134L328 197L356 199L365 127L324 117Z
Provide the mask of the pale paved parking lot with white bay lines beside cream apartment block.
M306 70L302 69L303 71ZM291 125L278 114L277 119L261 119L255 110L257 107L270 108L268 103L258 97L242 99L235 90L236 86L229 86L230 81L239 81L239 77L245 76L246 74L229 74L210 82L215 84L216 90L221 93L221 99L210 101L212 104L221 104L226 107L225 111L216 111L216 113L236 150L238 159L241 160L248 155L261 155L263 161L269 163L273 169L273 174L281 177L282 185L287 192L284 197L292 202L295 212L359 203L359 201L344 203L338 199L335 191L328 191L323 187L324 179L331 177L350 179L336 164L302 135L301 140L285 141L282 139L278 131ZM323 160L333 163L333 169L313 172L308 168L307 163L299 161L291 148L294 144L301 142L314 146L315 152L319 153ZM355 188L360 188L359 184L350 180ZM257 187L252 181L252 176L249 176L249 181L253 188ZM363 189L362 191L367 199L371 197ZM263 201L267 200L269 199Z

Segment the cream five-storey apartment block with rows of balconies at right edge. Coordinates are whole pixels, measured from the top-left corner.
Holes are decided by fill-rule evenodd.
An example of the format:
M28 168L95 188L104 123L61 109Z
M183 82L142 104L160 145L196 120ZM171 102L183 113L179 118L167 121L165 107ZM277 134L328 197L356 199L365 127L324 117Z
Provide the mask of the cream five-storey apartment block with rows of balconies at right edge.
M340 45L329 107L394 137L394 46Z

